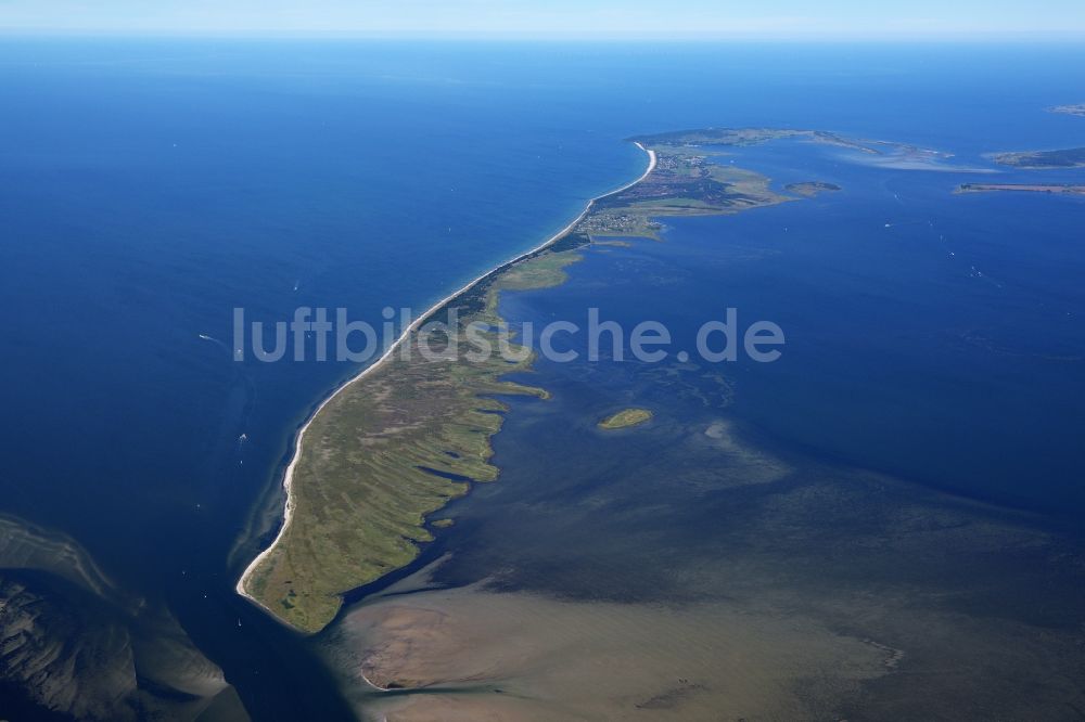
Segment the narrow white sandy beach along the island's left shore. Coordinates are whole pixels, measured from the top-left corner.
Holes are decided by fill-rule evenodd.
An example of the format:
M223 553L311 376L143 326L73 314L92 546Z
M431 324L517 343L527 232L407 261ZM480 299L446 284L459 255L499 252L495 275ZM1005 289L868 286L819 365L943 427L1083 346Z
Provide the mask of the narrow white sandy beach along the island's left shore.
M431 306L424 313L422 313L417 319L414 319L414 321L412 321L410 323L410 325L407 326L403 331L403 333L399 335L399 337L396 338L395 343L392 344L384 351L384 353L381 354L381 357L376 361L374 361L373 363L371 363L368 366L366 366L365 369L362 369L355 376L348 378L346 382L344 382L342 385L340 385L335 390L333 390L328 396L328 398L326 398L323 401L320 402L320 405L318 405L316 408L316 410L305 421L305 423L302 424L302 427L301 427L301 429L297 433L297 437L294 440L294 449L293 449L293 452L291 454L290 464L286 466L286 470L285 470L285 473L283 474L283 477L282 477L282 488L283 488L283 490L286 493L286 502L285 502L284 507L283 507L282 525L279 527L279 533L276 534L275 540L272 540L272 542L267 546L267 549L265 549L263 552L260 552L248 564L248 566L245 567L245 570L242 572L241 578L238 579L238 583L234 586L234 591L240 596L244 597L245 599L248 599L250 602L252 602L254 605L256 605L260 609L264 609L265 611L267 611L271 617L273 617L275 619L278 619L280 622L282 622L282 620L279 619L279 617L277 615L275 615L267 607L267 605L260 603L259 599L257 599L256 597L254 597L252 594L250 594L245 590L245 584L247 583L250 577L252 577L252 575L256 570L256 568L264 562L264 559L266 559L268 557L268 555L271 554L271 552L275 551L276 546L279 545L280 540L282 540L283 536L286 533L288 529L290 528L290 524L291 524L291 520L292 520L293 514L294 514L294 498L293 498L293 493L292 493L292 482L293 482L293 478L294 478L294 468L297 466L297 462L298 462L298 460L302 456L302 443L305 440L305 433L306 433L306 430L308 430L309 426L312 424L312 420L316 418L317 415L320 414L321 411L323 411L324 407L327 407L328 403L331 402L335 397L337 397L340 394L342 394L344 390L346 390L347 388L349 388L354 384L356 384L356 383L362 381L363 378L366 378L366 376L368 376L370 373L376 371L382 365L384 365L390 359L392 359L392 357L395 354L395 352L403 346L404 341L408 340L410 338L410 335L412 333L414 333L416 331L418 331L419 328L421 328L435 313L437 313L438 311L441 311L441 309L443 309L445 306L447 306L451 301L456 300L458 297L460 297L464 293L471 291L476 285L478 285L480 283L482 283L486 279L490 278L495 273L499 273L502 270L505 270L506 268L509 268L510 266L514 266L515 263L519 263L519 262L525 260L526 258L528 258L531 256L534 256L535 254L538 254L539 252L546 250L547 248L549 248L550 246L552 246L553 244L558 243L559 241L561 241L562 238L564 238L565 236L567 236L570 233L572 233L573 229L575 229L576 225L579 224L579 222L582 220L584 220L589 212L591 212L591 209L595 207L596 203L598 203L599 201L602 201L603 198L608 198L608 197L610 197L612 195L616 195L618 193L627 191L630 188L633 188L634 185L637 185L638 183L640 183L641 181L643 181L646 178L648 178L652 173L652 171L655 170L655 165L656 165L655 151L652 151L652 150L650 150L648 147L644 147L644 145L641 144L640 142L634 142L634 145L636 145L641 151L643 151L644 153L648 154L648 168L636 180L634 180L634 181L631 181L629 183L626 183L625 185L623 185L623 186L621 186L618 189L615 189L613 191L609 191L607 193L603 193L602 195L597 195L597 196L590 198L588 201L587 205L585 205L584 210L582 210L580 214L576 218L574 218L563 229L561 229L560 231L558 231L557 233L554 233L552 236L550 236L549 238L547 238L544 243L539 244L538 246L536 246L536 247L534 247L534 248L532 248L529 250L526 250L526 252L524 252L522 254L516 255L515 257L511 258L510 260L507 260L507 261L505 261L502 263L499 263L498 266L496 266L493 269L486 271L485 273L483 273L478 278L476 278L473 281L467 283L461 288L452 292L451 294L449 294L448 296L446 296L442 300L439 300L436 304L434 304L433 306ZM282 622L282 623L286 624L286 622ZM286 626L289 627L290 624L286 624Z

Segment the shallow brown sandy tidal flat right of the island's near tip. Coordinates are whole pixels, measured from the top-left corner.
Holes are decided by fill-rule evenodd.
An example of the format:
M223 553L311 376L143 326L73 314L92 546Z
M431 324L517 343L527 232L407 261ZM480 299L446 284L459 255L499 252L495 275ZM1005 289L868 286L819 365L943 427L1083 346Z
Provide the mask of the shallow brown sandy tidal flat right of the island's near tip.
M467 551L327 637L365 719L1073 719L1082 704L1082 558L1027 518L784 460L725 418L615 440L602 453L621 470L576 434L534 454L498 443L519 470L454 508Z

